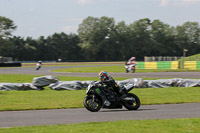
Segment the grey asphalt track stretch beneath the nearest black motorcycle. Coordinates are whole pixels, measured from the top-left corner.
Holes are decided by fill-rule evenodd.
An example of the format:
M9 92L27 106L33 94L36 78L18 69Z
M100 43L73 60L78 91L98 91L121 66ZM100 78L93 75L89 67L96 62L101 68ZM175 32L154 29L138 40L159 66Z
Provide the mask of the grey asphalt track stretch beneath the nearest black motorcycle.
M56 109L0 112L0 127L54 125L117 120L172 119L200 117L200 103L143 105L126 109L89 112L86 109Z

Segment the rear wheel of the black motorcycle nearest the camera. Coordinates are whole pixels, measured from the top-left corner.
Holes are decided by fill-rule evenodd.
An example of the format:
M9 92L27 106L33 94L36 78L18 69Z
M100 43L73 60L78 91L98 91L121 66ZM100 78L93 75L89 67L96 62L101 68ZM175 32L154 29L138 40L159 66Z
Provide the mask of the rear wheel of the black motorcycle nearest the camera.
M128 93L127 97L133 100L124 101L124 107L128 110L137 110L140 107L140 99L133 93Z

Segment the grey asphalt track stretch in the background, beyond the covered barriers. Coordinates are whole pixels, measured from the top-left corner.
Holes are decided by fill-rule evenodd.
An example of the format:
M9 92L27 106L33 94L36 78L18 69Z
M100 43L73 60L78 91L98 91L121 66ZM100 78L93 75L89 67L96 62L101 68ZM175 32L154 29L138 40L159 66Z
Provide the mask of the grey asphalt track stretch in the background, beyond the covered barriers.
M52 69L87 67L87 66L55 66L42 67L36 71L34 67L19 68L0 68L0 73L11 74L32 74L32 75L54 75L54 76L73 76L73 77L97 77L98 73L58 73L51 72ZM90 66L91 67L91 66ZM156 73L109 73L113 77L131 78L200 78L200 72L156 72Z

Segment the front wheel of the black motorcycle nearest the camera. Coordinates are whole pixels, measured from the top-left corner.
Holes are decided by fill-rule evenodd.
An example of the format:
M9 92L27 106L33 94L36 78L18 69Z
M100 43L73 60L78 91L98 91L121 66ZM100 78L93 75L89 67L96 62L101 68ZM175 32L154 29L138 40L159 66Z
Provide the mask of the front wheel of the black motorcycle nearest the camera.
M85 108L91 112L97 112L102 107L101 101L93 96L86 96L84 98L83 104Z

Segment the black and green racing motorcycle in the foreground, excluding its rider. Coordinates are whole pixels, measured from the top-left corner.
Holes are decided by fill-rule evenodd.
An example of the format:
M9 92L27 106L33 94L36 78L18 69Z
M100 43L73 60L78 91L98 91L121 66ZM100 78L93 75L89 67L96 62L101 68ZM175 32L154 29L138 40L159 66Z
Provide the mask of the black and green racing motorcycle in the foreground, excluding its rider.
M84 107L91 112L98 112L101 108L121 109L123 106L128 110L137 110L140 107L140 99L133 93L129 93L134 88L133 84L122 86L123 96L114 91L104 89L105 86L100 82L93 81L86 89L87 96L84 98ZM105 98L102 93L106 94L106 99L110 105L105 105Z

